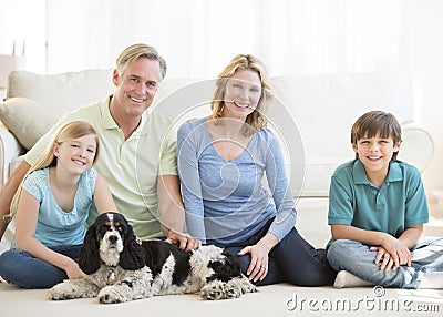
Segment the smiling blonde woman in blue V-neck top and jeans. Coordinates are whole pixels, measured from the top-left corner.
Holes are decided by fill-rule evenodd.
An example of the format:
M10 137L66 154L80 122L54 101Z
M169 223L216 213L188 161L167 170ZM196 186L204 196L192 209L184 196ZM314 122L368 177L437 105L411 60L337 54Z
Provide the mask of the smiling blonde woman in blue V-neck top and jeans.
M336 272L295 228L297 212L278 140L262 111L264 64L237 55L218 75L213 114L178 130L178 170L190 235L236 255L257 285L332 284ZM270 188L262 186L262 177Z

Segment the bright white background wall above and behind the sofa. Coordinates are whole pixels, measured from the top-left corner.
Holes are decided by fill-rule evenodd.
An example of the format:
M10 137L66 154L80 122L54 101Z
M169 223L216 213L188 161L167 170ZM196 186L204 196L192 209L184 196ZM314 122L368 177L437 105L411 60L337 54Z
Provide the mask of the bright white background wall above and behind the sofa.
M11 34L29 37L35 72L110 68L135 41L158 48L169 76L215 76L234 52L259 55L274 75L408 71L435 142L426 191L443 190L441 0L0 0L0 54Z

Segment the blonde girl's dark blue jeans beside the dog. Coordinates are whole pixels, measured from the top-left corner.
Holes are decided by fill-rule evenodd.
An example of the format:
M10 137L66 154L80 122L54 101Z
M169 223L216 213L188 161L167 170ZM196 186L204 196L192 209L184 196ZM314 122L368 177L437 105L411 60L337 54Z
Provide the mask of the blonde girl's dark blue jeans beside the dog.
M80 248L81 245L50 247L74 260L79 257ZM23 288L50 288L68 278L63 269L18 249L0 255L0 276Z

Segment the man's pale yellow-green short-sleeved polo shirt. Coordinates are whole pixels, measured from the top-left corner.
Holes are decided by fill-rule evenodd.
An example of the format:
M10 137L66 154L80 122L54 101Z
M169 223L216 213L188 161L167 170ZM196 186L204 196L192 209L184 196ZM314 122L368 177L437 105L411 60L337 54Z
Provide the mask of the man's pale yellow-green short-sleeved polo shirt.
M56 129L66 122L83 120L95 126L100 154L95 164L106 180L120 213L131 222L141 238L163 235L157 221L157 177L177 175L176 134L169 131L171 121L156 112L145 111L133 134L124 140L123 132L112 119L110 98L65 114L27 153L24 160L33 164L51 142ZM89 223L96 217L92 211Z

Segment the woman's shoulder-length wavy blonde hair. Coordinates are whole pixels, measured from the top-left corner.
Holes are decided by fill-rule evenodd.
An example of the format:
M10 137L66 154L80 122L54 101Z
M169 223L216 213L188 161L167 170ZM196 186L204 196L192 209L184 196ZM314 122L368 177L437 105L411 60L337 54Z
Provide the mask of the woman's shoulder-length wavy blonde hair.
M260 127L266 126L267 122L264 116L264 111L266 105L272 100L272 89L269 84L268 72L265 68L265 64L254 55L239 54L235 57L222 71L215 84L215 91L213 100L210 102L210 110L213 111L213 119L223 117L223 111L225 108L226 84L229 79L234 76L234 74L239 70L250 70L257 72L258 76L260 78L260 100L258 101L257 108L254 110L254 112L248 114L248 116L246 117L246 123L251 129L247 129L248 132L245 131L245 133L253 134Z

